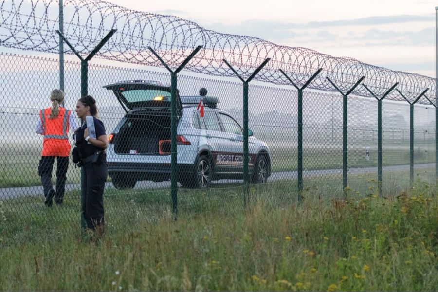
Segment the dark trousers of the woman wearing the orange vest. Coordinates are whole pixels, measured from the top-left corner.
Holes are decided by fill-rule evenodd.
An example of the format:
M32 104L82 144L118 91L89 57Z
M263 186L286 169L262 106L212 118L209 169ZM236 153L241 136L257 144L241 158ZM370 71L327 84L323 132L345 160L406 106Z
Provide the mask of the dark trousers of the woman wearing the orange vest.
M52 170L56 157L56 192L55 201L62 203L65 192L65 181L67 180L67 169L69 167L68 156L42 156L39 161L38 174L41 177L41 183L44 188L44 195L50 195L53 190L52 186ZM51 199L51 198L49 198Z

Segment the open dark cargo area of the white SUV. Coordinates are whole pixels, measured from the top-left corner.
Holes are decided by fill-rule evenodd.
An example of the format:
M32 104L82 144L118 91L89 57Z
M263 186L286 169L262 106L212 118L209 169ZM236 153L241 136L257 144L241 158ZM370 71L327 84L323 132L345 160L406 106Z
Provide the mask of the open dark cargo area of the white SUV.
M129 113L114 139L117 154L170 154L170 115Z

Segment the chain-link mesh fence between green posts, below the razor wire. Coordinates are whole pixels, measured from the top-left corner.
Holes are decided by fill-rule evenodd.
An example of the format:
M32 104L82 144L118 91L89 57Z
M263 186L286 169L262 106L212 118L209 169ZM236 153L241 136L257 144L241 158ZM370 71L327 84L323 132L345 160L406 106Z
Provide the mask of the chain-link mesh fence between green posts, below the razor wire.
M57 59L0 55L0 229L32 237L80 228L81 170L70 160L61 205L48 208L38 175L42 136L39 111L58 88ZM65 62L65 108L81 96L81 64ZM302 173L298 167L298 91L254 82L248 103L248 195L244 182L243 84L237 78L177 77L177 201L171 186L170 73L91 63L88 93L97 101L109 146L106 225L138 227L175 212L241 212L264 200L282 205L308 198L378 194L378 102L348 96L347 188L343 189L343 96L303 92ZM202 101L202 102L201 102ZM201 102L201 103L200 103ZM435 182L435 107L414 108L415 175ZM80 124L80 121L77 121ZM382 103L382 195L410 185L410 108ZM68 135L73 145L71 130ZM302 191L299 176L302 176ZM56 182L56 163L53 168ZM25 228L23 228L23 226ZM130 227L129 227L130 226ZM50 228L55 227L55 228ZM22 232L26 230L26 232Z

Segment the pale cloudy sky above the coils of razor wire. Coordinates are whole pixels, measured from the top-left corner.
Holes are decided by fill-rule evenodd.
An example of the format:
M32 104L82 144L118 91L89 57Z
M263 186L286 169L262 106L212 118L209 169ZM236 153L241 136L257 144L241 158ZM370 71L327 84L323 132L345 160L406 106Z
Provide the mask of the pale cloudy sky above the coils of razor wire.
M221 33L260 37L435 77L438 0L107 0L175 15Z

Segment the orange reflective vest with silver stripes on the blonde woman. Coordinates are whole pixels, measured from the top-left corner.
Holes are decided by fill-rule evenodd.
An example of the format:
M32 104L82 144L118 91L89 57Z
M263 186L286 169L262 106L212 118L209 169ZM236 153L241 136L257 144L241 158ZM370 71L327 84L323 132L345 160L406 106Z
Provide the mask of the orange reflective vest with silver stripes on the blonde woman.
M51 108L39 111L41 125L44 131L41 156L69 156L69 118L70 110L59 107L58 116L51 118Z

